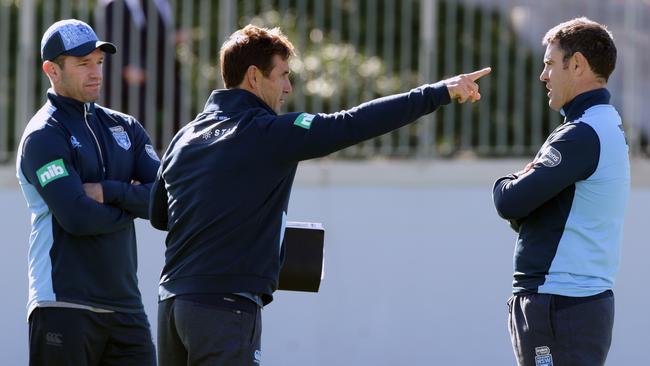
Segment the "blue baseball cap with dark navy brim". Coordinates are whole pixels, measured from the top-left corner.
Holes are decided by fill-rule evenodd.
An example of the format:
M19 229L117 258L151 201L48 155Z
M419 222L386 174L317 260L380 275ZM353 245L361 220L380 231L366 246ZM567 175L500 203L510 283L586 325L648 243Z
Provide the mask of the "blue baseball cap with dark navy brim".
M114 44L97 39L95 31L81 20L60 20L43 34L41 58L52 61L60 55L85 56L97 48L111 54L117 52Z

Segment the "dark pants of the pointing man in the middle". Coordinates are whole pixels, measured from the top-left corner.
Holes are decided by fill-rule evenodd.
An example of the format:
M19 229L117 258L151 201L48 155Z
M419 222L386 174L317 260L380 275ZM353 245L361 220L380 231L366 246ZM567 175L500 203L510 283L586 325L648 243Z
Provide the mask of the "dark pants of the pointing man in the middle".
M158 303L161 366L259 366L261 309L228 296L224 304L171 298Z

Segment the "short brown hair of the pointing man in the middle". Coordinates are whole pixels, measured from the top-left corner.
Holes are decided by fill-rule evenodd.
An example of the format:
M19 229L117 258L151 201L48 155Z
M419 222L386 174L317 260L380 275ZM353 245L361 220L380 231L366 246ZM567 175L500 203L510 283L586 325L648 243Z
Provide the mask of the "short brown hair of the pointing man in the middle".
M283 60L295 55L293 44L280 28L261 28L249 24L231 34L221 46L221 77L226 88L242 83L249 66L257 66L264 76L273 68L273 56Z

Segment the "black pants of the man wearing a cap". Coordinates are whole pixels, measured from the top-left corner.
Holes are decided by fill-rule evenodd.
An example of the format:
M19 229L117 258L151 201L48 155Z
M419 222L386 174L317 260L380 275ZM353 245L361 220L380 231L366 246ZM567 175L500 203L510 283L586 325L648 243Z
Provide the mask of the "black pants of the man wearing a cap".
M156 365L147 315L36 308L29 317L29 364Z

